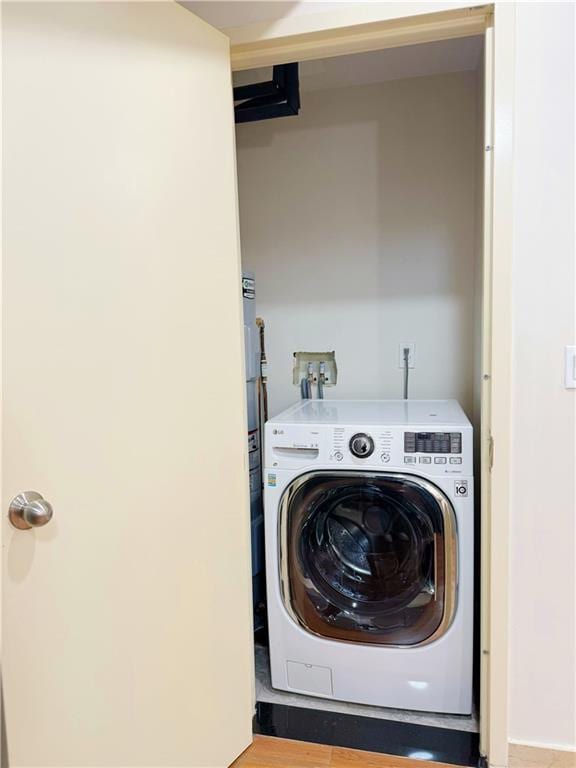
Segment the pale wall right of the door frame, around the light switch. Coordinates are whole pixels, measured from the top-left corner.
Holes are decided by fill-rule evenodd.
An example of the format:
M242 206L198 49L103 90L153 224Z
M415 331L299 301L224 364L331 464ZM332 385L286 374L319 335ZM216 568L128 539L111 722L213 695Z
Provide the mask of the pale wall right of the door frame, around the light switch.
M510 737L574 748L574 6L516 32Z

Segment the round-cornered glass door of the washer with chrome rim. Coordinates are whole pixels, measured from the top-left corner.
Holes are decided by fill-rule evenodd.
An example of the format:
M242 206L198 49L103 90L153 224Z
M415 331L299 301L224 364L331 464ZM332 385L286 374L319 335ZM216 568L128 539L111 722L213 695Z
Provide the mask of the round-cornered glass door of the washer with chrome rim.
M280 502L284 605L309 632L355 643L431 642L456 604L456 517L412 475L311 472Z

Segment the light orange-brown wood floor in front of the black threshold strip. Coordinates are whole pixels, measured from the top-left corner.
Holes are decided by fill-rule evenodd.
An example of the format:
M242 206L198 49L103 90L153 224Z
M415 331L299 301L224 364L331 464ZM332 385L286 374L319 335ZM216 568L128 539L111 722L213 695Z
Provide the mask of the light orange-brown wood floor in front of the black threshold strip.
M409 760L344 747L254 736L230 768L454 768L445 763Z

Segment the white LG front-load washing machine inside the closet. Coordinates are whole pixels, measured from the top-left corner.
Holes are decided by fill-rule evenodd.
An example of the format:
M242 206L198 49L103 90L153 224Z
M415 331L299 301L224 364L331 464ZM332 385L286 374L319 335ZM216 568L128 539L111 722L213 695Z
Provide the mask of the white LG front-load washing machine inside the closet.
M472 708L472 426L455 400L304 400L266 424L272 685Z

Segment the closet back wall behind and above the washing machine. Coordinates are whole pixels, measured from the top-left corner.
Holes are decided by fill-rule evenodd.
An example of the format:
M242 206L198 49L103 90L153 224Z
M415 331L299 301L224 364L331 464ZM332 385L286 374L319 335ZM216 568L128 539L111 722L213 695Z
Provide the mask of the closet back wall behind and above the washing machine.
M266 321L270 412L299 398L292 353L336 350L327 397L410 395L473 414L477 75L304 92L300 116L237 130L243 263Z

